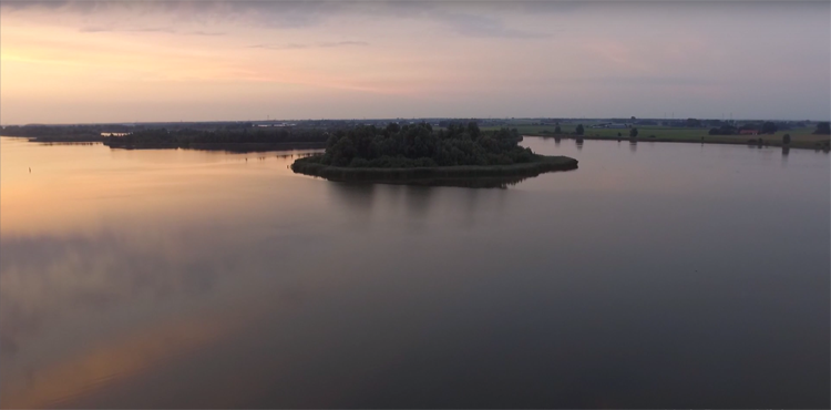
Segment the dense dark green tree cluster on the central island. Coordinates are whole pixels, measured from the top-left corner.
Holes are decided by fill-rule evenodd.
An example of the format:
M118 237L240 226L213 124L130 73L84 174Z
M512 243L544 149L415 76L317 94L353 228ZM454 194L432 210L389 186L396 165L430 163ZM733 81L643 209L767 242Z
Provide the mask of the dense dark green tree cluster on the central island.
M520 141L516 130L482 132L475 122L451 123L439 131L427 123L357 126L332 133L326 152L316 162L380 168L531 162L534 154L519 146Z

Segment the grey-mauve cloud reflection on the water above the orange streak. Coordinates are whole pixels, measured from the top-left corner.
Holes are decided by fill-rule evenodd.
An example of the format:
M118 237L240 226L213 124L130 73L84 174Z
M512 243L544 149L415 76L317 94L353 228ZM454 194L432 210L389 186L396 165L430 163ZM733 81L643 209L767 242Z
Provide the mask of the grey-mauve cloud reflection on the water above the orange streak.
M110 233L3 237L0 356L16 355L27 340L66 312L102 310L143 294L160 299L204 294L222 271L214 267L219 264L216 260L150 257L148 252L153 253ZM71 280L66 280L68 274Z

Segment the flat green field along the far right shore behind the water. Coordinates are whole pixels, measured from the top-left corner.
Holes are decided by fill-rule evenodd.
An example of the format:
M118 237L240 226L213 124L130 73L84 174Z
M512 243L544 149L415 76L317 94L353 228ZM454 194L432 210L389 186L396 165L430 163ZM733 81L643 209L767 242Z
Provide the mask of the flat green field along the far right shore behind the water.
M515 123L509 125L515 127L520 134L525 136L555 136L554 125L532 125L529 123ZM565 123L561 124L562 136L571 137L577 123ZM628 129L592 129L591 122L584 124L585 139L611 139L617 140L618 133L620 137L628 140ZM499 126L482 127L485 130L496 130ZM766 135L709 135L709 129L685 129L685 127L670 127L659 125L644 125L637 126L638 140L639 141L663 141L663 142L704 142L704 143L720 143L720 144L747 144L748 140L762 139L765 145L782 145L782 136L784 134L791 135L791 147L794 148L828 148L831 146L831 135L814 135L813 129L798 129L789 131L779 131L774 134ZM704 139L704 140L702 140Z

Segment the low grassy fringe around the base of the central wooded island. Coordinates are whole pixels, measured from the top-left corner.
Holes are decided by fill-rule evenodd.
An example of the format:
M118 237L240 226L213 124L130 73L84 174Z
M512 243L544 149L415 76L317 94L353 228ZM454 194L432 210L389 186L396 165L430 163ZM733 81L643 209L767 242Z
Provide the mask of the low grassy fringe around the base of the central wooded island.
M298 174L335 182L379 184L505 187L547 172L577 168L577 160L567 156L535 155L534 161L492 166L431 166L410 168L365 168L329 166L315 162L318 155L299 158L291 164Z

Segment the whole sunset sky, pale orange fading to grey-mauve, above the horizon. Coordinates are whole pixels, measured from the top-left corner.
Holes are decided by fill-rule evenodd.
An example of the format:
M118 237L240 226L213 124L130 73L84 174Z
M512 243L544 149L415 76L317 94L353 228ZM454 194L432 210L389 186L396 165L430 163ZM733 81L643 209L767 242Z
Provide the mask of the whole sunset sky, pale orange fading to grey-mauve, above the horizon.
M0 123L831 119L831 1L3 0Z

